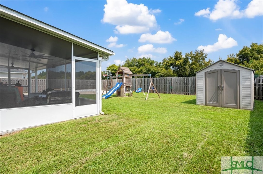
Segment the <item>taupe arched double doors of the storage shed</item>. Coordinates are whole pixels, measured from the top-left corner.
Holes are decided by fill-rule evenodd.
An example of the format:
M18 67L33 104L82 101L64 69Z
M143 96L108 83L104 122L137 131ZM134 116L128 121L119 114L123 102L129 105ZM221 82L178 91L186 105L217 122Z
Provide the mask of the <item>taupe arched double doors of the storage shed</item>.
M239 71L216 69L205 73L205 104L239 109Z

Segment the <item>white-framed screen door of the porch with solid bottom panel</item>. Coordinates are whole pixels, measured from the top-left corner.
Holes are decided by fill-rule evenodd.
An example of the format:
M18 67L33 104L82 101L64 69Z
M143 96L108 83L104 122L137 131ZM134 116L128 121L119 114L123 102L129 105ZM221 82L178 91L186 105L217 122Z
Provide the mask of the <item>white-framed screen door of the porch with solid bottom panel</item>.
M97 61L74 57L74 63L74 118L97 115Z

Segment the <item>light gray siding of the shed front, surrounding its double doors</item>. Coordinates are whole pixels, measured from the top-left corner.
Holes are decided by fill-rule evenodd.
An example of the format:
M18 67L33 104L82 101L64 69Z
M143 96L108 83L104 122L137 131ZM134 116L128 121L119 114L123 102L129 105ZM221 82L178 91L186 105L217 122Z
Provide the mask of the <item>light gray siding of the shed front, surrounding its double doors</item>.
M224 66L220 67L220 62L223 62ZM205 105L205 72L214 69L240 71L240 109L252 110L254 107L254 71L225 61L215 62L196 73L196 104Z

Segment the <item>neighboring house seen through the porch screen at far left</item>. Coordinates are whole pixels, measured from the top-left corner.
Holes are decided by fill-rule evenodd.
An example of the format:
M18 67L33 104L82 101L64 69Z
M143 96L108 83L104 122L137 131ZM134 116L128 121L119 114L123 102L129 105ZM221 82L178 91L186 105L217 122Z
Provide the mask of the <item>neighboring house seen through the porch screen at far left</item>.
M26 79L27 71L24 69L11 69L11 78ZM0 67L0 78L8 78L8 67Z

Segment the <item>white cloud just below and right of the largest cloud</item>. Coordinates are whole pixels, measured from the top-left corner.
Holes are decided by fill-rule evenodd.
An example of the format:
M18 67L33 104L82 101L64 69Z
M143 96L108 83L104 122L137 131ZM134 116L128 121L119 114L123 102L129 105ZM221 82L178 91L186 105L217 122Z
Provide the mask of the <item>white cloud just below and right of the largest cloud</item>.
M173 41L176 41L172 37L172 35L169 33L169 31L157 31L156 34L142 34L139 42L150 42L150 43L172 43Z

